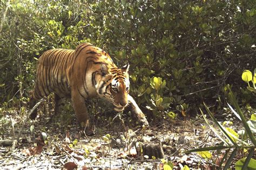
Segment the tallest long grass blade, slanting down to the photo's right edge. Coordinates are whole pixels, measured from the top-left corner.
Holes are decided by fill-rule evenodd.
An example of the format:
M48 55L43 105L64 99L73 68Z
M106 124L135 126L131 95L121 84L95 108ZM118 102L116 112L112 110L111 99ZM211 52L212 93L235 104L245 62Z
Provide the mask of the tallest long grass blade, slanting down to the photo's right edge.
M230 97L230 100L233 103L234 108L237 110L239 116L241 117L242 124L244 124L244 127L245 127L245 130L246 130L247 134L248 134L248 137L251 139L253 145L256 146L256 140L255 140L255 138L253 136L253 133L252 133L249 125L247 124L245 116L244 116L244 114L242 114L242 111L241 111L241 109L240 109L240 107L239 107L239 105L237 103L237 100L234 97L234 94L233 94L232 90L230 89L230 87L228 87L228 89L230 91L228 96Z

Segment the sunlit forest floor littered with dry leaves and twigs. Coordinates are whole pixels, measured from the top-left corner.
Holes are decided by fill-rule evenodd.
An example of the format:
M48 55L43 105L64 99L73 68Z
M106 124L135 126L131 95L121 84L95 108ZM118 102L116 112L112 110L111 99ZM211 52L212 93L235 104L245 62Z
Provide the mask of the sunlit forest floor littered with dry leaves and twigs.
M10 125L2 120L1 139L10 139L12 143L22 129L24 116L14 110L4 115ZM184 153L220 143L203 119L151 121L149 128L142 128L124 122L127 117L117 117L112 122L102 117L95 121L96 134L85 137L78 132L74 116L70 123L63 124L60 121L50 123L49 115L41 114L35 121L25 123L18 143L0 144L0 167L163 169L165 164L172 162L174 169L182 169L185 165L214 169L214 164L219 165L218 158L224 154L211 152L211 158L203 158L202 154Z

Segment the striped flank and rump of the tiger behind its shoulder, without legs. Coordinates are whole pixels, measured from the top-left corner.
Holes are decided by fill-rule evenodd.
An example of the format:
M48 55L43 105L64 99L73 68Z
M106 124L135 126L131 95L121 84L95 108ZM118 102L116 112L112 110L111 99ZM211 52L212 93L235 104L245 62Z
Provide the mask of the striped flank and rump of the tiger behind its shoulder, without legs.
M51 92L70 96L68 68L73 60L73 49L50 49L42 54L37 63L36 87L33 97L40 99Z

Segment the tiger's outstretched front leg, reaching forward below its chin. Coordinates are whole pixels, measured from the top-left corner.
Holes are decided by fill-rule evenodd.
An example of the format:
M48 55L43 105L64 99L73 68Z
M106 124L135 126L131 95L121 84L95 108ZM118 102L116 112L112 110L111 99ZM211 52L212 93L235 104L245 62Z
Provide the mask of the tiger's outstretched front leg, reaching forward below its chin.
M128 94L127 98L128 98L128 103L129 103L129 105L127 107L130 109L132 114L138 119L138 122L141 125L149 126L149 122L147 122L145 115L143 114L142 110L140 110L140 108L138 107L138 104L134 101L132 96L130 96Z

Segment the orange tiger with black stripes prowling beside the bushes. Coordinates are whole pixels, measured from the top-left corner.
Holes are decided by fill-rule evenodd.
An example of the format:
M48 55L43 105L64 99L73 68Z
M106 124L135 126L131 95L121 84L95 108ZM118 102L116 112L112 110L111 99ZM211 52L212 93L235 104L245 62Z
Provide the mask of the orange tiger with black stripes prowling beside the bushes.
M65 98L71 98L76 118L89 127L86 101L103 98L120 112L130 108L138 122L149 126L145 115L129 95L129 67L118 68L110 55L89 42L76 49L56 48L45 51L37 61L35 87L31 91L30 109L41 98L55 94L55 114L62 111ZM127 107L129 105L129 107ZM37 117L37 111L30 115Z

